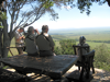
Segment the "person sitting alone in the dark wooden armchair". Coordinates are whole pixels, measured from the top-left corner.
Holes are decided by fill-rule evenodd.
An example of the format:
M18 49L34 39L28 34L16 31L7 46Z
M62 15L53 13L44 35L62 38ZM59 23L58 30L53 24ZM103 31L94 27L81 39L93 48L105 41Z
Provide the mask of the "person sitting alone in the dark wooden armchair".
M85 38L84 36L80 36L80 37L79 37L79 44L78 44L78 46L89 46L88 44L86 44L86 38ZM84 55L84 54L87 54L87 50L88 50L87 48L82 48L82 49L81 49L82 55ZM80 60L81 60L80 49L77 48L76 52L77 52L77 55L79 55L79 61L80 61Z

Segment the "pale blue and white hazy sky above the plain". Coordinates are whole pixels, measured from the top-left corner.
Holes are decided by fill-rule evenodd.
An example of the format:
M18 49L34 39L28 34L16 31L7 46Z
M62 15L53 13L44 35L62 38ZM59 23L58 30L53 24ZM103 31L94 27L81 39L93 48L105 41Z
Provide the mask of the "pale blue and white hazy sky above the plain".
M51 21L48 14L42 16L38 21L36 21L32 26L41 30L43 24L47 24L50 28L80 28L80 27L105 27L110 26L110 7L107 3L99 5L94 3L90 8L91 13L88 16L86 12L80 13L77 8L73 8L68 10L62 8L56 9L55 11L58 13L59 19L56 21Z

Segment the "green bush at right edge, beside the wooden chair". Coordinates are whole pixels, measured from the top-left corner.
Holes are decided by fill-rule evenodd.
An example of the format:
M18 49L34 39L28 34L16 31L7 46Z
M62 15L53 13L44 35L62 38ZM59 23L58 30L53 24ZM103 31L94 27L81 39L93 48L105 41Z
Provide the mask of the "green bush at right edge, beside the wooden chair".
M108 47L102 44L95 48L95 67L110 71L110 51Z

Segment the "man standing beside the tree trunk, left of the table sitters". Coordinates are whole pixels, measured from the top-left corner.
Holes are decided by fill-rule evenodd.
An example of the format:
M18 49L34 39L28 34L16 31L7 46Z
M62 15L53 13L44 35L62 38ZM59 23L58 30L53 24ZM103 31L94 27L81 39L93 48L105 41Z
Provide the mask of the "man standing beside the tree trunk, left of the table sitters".
M23 54L23 46L24 46L24 36L21 34L22 32L24 32L24 28L21 27L18 31L15 31L14 33L14 37L15 37L15 47L18 49L19 55Z

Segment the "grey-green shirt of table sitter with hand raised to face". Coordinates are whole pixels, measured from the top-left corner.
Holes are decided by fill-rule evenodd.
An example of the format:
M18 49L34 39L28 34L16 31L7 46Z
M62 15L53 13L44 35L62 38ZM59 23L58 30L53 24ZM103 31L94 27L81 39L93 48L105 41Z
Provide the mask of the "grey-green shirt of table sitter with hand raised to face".
M25 36L25 47L28 54L35 54L38 49L35 44L35 35L26 35Z

